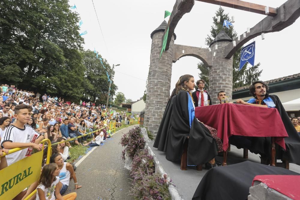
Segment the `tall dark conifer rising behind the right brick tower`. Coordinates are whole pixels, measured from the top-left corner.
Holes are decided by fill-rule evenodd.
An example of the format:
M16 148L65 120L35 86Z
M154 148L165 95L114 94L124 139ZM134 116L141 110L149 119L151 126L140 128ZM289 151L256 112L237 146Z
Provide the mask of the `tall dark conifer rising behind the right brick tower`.
M220 23L217 23L217 16L221 16ZM228 20L231 22L229 19L228 13L224 12L223 8L220 8L216 11L215 16L213 17L213 25L211 26L210 34L207 35L207 38L205 38L205 42L209 45L212 40L217 36L217 34L220 32L220 30L223 28L223 21L224 19ZM223 30L225 33L231 37L235 38L237 36L234 28L232 26L229 26L230 28L224 27ZM242 47L241 47L242 48ZM233 55L233 72L232 72L232 87L233 88L238 88L242 87L244 85L250 85L253 81L256 81L259 79L260 74L262 73L262 70L259 70L259 65L250 67L247 69L247 63L245 66L238 71L239 69L239 63L240 63L240 58L241 58L241 48L239 48L237 51L235 51ZM198 69L201 71L199 73L200 79L205 80L205 88L208 88L209 85L209 67L205 66L202 62L199 62L197 64Z

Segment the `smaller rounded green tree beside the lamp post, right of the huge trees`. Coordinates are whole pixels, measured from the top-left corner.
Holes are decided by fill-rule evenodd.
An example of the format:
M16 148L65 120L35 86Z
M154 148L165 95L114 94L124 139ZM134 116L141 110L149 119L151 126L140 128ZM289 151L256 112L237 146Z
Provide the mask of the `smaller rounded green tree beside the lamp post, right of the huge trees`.
M91 101L98 100L99 103L106 104L107 92L110 84L107 79L106 71L111 74L112 69L107 63L107 60L102 58L104 67L106 68L104 69L100 60L96 58L96 54L94 53L94 51L88 49L86 51L83 51L82 55L82 65L85 67L83 98ZM101 57L101 55L98 54L98 57ZM110 100L112 100L117 89L118 87L112 81L112 84L110 86Z

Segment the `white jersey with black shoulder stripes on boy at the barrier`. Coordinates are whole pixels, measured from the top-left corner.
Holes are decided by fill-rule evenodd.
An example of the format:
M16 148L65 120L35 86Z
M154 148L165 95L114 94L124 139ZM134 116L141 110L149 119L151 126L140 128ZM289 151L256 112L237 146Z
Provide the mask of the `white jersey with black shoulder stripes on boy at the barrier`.
M22 143L29 143L29 142L35 142L35 140L40 136L41 134L36 132L31 126L25 125L24 129L20 129L15 127L14 125L10 125L6 132L4 133L4 136L1 138L1 147L3 148L2 144L3 142L22 142ZM32 153L32 147L25 148L21 151L17 151L12 154L8 154L6 156L7 165L11 165L26 156L30 156Z

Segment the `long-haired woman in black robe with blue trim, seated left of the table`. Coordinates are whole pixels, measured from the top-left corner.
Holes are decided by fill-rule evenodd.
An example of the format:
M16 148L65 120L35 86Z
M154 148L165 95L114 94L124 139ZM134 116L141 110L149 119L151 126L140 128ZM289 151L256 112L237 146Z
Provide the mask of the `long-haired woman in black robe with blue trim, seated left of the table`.
M167 160L180 161L184 142L189 136L187 164L206 163L211 167L218 166L220 163L214 160L218 151L216 141L209 130L195 118L194 103L190 93L194 85L194 78L191 75L181 76L176 83L153 147L166 152Z

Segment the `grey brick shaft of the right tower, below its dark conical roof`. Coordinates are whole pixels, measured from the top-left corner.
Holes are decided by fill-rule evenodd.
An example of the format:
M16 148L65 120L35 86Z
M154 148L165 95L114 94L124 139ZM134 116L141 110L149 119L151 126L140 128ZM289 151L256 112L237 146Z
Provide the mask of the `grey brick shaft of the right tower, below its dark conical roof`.
M212 57L212 66L209 70L209 94L212 104L219 103L217 93L221 90L226 92L230 100L232 99L232 57L225 58L225 46L229 41L217 42L218 49L215 44L211 45L211 50L216 52Z

